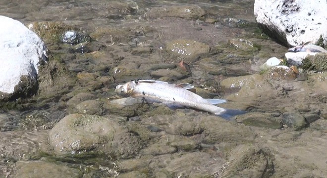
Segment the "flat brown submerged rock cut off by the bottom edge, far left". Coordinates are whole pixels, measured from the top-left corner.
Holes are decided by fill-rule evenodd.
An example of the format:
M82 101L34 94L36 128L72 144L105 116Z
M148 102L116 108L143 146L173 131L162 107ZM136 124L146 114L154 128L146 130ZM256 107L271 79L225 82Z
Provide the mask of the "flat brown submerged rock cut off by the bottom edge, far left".
M15 170L15 178L76 178L82 174L78 169L45 161L18 161Z

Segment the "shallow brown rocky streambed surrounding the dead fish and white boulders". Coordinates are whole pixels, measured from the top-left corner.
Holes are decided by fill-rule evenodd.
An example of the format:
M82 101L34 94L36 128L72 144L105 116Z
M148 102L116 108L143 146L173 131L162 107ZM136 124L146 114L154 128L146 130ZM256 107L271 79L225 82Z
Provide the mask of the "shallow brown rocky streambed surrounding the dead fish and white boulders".
M0 98L0 178L327 175L327 54L291 67L287 47L257 27L250 2L232 10L231 2L217 2L217 11L212 2L113 1L89 11L107 25L26 23L49 51L33 66L37 90L27 83L33 92ZM280 63L267 65L274 56ZM247 113L226 121L114 93L139 78L191 83L204 98L226 99L219 107Z

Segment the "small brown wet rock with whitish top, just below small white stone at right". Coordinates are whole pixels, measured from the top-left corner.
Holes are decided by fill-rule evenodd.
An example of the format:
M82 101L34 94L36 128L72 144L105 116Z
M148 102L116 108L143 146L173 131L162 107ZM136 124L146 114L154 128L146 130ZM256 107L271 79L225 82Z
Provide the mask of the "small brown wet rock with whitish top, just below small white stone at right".
M275 66L265 73L268 79L272 80L294 80L297 74L287 66Z

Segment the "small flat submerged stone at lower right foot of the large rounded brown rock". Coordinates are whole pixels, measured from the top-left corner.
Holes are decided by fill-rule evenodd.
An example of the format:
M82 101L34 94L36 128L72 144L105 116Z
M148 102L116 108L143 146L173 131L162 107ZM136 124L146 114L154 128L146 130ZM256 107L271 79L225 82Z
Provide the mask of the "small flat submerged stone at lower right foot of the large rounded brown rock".
M141 155L163 155L177 152L177 148L170 145L152 144L140 151Z

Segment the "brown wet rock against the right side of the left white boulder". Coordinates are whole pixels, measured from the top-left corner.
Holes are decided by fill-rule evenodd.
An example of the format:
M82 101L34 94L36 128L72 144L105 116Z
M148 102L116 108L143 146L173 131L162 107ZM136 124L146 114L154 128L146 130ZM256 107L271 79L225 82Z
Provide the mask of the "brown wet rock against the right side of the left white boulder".
M61 56L52 56L49 62L40 66L38 81L38 93L46 98L68 92L76 82L61 60Z

